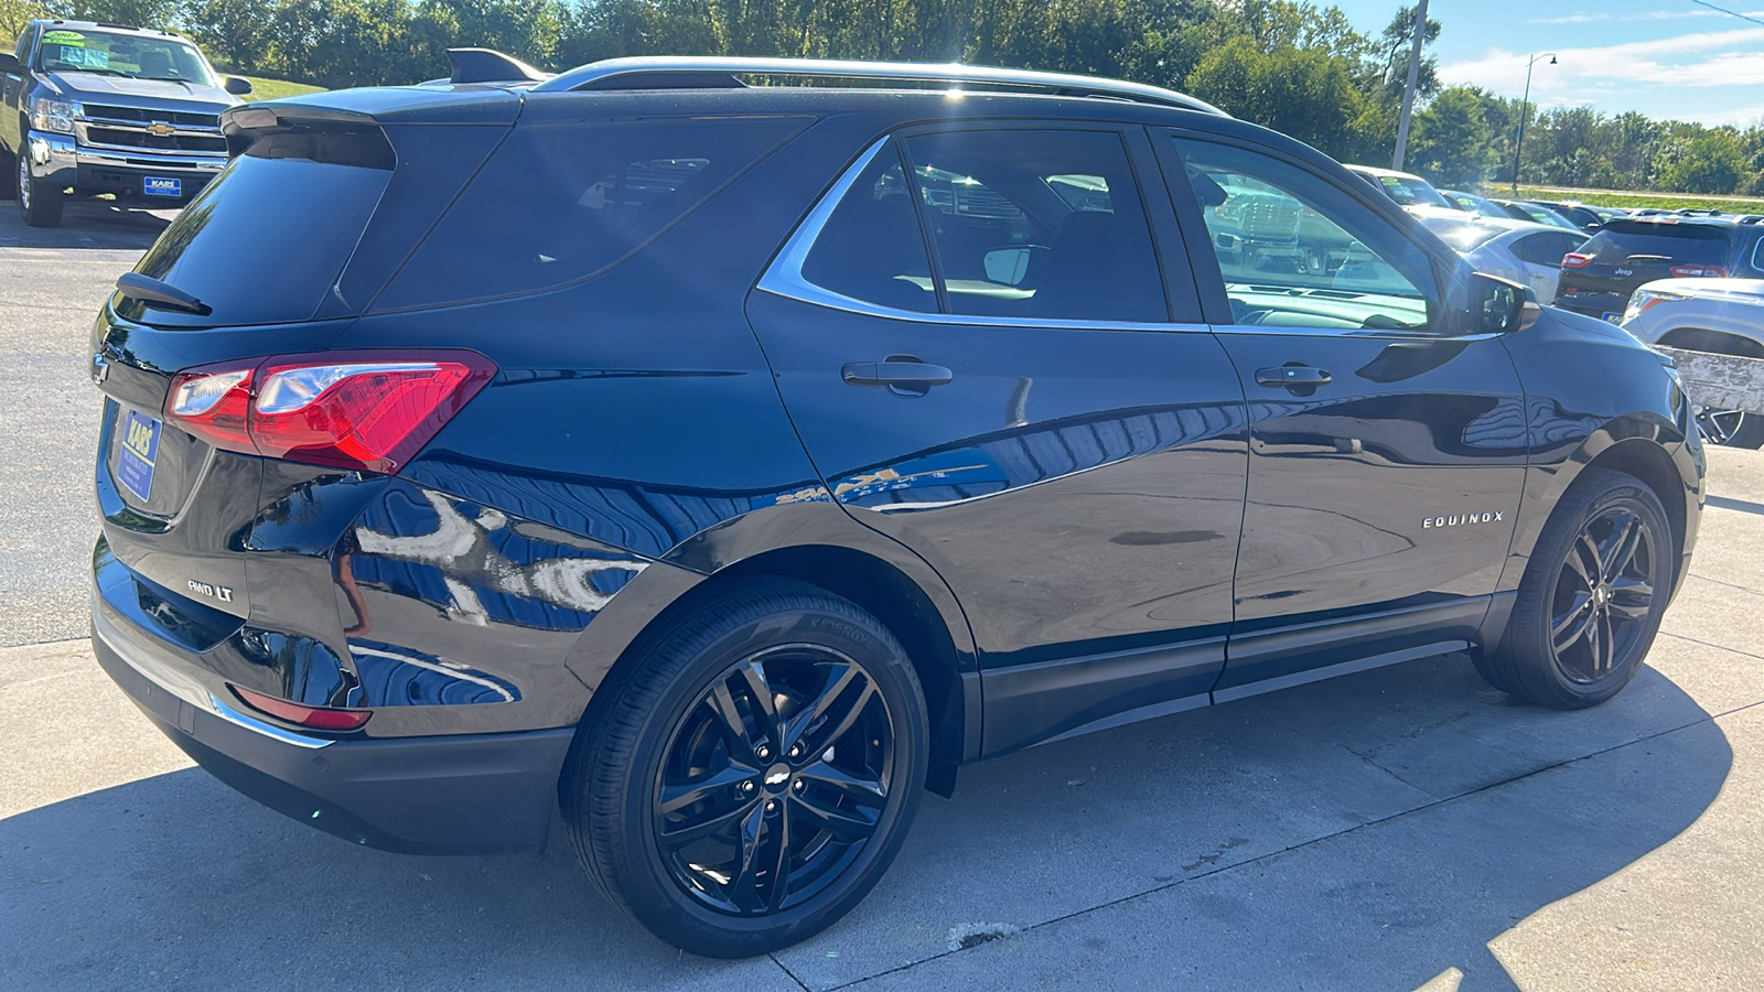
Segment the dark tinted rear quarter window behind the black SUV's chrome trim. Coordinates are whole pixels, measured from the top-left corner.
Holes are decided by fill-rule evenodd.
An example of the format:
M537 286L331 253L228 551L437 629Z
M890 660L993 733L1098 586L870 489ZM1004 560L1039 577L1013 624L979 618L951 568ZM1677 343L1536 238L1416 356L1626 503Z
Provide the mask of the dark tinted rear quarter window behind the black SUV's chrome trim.
M376 309L510 297L596 275L801 127L797 118L517 127Z

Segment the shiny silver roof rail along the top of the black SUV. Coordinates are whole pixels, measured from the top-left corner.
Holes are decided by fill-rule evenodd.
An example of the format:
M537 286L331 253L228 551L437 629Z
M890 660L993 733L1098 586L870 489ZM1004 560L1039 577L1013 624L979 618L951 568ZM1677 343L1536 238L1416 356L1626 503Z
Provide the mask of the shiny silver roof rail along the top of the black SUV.
M1058 95L1111 97L1147 104L1198 109L1231 116L1207 101L1187 94L1129 83L1099 79L1067 72L1034 72L1028 69L1000 69L995 65L961 65L958 62L852 62L841 58L729 58L720 55L646 55L633 58L605 58L561 72L536 86L536 94L568 90L647 90L697 88L741 85L737 76L797 76L813 79L898 79L912 83L977 83L1050 90ZM672 78L672 79L670 79Z

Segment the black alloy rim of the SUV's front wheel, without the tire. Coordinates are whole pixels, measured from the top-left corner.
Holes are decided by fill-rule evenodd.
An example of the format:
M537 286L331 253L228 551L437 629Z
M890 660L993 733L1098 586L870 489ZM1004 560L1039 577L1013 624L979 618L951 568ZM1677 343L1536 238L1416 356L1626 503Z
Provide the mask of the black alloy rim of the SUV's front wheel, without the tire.
M1612 503L1581 526L1551 604L1551 650L1575 683L1607 678L1648 632L1658 552L1633 501Z

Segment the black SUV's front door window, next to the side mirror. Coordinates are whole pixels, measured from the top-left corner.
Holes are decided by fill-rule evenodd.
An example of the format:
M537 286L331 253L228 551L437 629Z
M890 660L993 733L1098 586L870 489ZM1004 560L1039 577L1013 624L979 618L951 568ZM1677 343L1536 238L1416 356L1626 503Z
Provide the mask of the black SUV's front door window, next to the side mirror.
M1422 330L1439 312L1427 252L1346 191L1247 148L1175 145L1233 323Z

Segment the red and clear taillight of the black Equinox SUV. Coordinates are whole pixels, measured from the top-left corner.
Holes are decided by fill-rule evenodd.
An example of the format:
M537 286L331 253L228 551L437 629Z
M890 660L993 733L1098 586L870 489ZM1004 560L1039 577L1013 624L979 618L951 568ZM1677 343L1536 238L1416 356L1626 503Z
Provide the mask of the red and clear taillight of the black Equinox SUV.
M277 355L178 372L166 418L217 448L393 473L494 374L476 351Z

